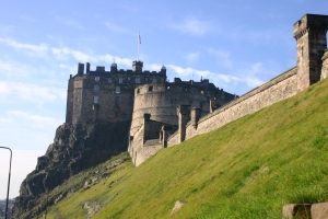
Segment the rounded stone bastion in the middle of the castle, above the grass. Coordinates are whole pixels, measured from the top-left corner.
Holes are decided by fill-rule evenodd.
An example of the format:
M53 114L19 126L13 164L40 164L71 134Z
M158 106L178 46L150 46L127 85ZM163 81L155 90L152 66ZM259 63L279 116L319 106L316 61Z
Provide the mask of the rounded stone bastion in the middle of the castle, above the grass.
M190 119L190 107L198 108L197 115L200 117L234 97L209 83L209 80L195 82L175 79L172 83L137 87L129 145L132 161L139 165L160 148L168 146L167 138L177 130L180 120L181 104L188 106L181 117L186 124ZM184 139L185 135L179 135L179 142Z

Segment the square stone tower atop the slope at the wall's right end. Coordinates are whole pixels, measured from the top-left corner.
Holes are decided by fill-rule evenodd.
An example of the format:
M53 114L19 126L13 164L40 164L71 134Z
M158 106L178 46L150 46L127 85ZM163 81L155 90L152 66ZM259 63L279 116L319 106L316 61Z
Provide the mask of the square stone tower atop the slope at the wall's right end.
M297 91L301 92L320 80L328 16L305 14L293 27L297 43Z

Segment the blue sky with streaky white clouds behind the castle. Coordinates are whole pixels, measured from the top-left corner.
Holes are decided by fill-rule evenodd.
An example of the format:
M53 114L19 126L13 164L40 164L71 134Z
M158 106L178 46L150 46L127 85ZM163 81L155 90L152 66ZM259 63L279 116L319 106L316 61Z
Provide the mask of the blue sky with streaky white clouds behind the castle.
M65 122L78 62L167 67L169 81L210 79L238 95L296 64L293 24L327 0L0 0L0 146L13 149L10 197ZM0 199L9 152L0 150Z

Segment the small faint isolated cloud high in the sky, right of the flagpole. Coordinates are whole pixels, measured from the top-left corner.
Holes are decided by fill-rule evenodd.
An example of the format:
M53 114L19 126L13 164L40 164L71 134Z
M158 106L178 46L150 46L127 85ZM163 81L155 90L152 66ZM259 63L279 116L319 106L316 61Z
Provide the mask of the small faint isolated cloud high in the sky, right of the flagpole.
M172 23L171 27L183 33L200 36L213 32L214 23L213 21L202 21L195 16L189 16L185 18L180 23Z

